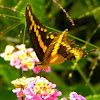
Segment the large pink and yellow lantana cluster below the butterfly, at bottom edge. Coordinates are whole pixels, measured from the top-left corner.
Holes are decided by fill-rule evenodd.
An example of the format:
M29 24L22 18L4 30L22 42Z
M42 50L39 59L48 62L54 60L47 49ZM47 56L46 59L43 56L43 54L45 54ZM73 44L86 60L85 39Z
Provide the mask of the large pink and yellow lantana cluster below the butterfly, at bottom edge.
M56 85L49 82L44 77L19 78L12 81L16 87L13 90L17 94L19 100L57 100L57 96L61 96L61 92L55 89Z

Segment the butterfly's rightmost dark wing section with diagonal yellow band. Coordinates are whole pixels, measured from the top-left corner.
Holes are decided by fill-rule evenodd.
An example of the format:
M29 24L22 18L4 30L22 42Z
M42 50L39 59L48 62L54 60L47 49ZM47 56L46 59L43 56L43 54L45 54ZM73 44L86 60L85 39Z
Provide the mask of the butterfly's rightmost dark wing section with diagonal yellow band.
M66 60L81 59L87 55L86 51L76 47L75 43L69 40L67 33L65 31L58 53L66 58Z

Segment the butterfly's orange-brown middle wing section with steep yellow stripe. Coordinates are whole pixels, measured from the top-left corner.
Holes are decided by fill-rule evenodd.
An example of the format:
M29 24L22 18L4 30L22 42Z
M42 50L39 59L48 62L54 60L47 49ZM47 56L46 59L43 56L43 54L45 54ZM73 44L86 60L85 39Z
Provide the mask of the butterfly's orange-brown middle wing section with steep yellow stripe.
M60 48L63 36L64 33L59 33L52 40L44 55L43 63L48 63L49 65L52 65L52 64L59 64L65 60L65 58L61 54L58 54L58 50Z

